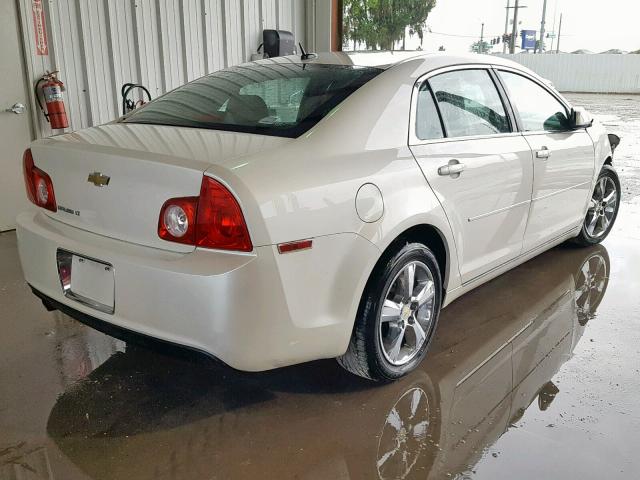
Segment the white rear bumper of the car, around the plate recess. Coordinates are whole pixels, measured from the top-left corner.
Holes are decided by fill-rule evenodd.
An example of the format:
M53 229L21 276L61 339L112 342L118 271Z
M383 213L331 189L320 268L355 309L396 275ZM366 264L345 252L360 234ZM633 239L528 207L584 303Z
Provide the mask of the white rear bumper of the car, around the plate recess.
M106 322L246 371L344 353L377 258L376 247L356 234L319 237L313 249L286 255L274 246L250 254L176 253L86 232L41 212L23 213L17 223L24 276L41 298L85 323ZM113 266L113 314L64 295L58 249Z

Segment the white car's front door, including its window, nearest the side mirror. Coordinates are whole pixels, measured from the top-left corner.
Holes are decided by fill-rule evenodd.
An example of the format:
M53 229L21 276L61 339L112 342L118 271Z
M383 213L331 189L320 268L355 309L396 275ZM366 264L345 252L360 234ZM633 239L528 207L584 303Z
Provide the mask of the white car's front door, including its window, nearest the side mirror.
M498 76L534 157L527 251L582 222L591 193L594 147L586 129L570 128L569 109L547 86L516 70L501 68Z

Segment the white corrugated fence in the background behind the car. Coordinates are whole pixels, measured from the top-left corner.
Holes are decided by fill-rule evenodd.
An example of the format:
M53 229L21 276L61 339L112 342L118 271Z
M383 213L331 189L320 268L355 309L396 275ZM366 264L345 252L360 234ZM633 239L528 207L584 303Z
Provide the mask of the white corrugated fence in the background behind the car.
M530 68L562 92L640 93L640 55L500 55Z

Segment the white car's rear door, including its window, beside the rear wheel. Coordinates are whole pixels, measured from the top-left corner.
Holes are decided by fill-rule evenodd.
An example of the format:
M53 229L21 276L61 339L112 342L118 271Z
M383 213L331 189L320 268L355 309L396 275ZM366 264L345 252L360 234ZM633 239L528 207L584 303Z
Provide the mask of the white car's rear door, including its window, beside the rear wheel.
M436 71L414 92L410 147L454 231L463 283L520 254L529 213L531 149L499 92L485 66Z

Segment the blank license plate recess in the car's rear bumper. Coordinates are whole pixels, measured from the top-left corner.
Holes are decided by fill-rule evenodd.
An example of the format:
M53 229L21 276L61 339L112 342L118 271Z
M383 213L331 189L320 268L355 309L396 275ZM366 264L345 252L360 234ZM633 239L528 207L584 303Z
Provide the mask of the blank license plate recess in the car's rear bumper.
M100 312L115 310L113 265L101 260L58 249L58 275L65 297Z

